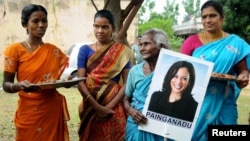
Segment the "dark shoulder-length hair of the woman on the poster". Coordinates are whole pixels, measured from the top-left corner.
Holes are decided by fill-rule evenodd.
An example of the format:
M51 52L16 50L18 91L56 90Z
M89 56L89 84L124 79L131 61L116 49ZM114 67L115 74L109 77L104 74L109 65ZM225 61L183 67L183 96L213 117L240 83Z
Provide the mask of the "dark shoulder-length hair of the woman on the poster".
M165 75L162 89L164 91L167 91L168 93L171 92L170 81L176 75L176 73L178 72L178 70L180 68L187 68L188 69L190 79L188 82L188 87L186 88L184 93L191 94L192 89L194 87L194 82L195 82L195 70L194 70L193 64L190 62L187 62L187 61L177 61L169 68L167 74ZM183 96L185 96L185 94Z

